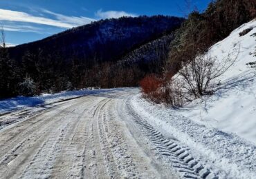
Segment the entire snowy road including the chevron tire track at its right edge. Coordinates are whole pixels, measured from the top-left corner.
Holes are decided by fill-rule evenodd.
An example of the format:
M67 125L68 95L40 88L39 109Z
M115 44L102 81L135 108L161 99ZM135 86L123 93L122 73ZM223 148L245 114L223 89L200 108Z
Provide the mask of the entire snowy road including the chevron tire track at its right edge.
M91 94L0 116L0 178L222 178L205 165L212 161L136 112L136 94Z

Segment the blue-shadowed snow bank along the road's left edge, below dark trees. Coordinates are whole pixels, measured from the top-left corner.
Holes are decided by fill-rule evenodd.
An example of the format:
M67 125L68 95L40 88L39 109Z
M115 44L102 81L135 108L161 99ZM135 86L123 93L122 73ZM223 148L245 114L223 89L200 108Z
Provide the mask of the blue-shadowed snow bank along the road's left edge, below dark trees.
M24 97L18 96L16 98L10 98L0 101L0 114L13 111L15 109L21 109L24 107L32 107L35 105L54 103L65 99L75 98L78 96L84 96L88 94L97 94L102 92L113 92L115 89L84 89L72 92L60 92L57 94L42 94L41 96ZM117 89L116 89L117 90Z

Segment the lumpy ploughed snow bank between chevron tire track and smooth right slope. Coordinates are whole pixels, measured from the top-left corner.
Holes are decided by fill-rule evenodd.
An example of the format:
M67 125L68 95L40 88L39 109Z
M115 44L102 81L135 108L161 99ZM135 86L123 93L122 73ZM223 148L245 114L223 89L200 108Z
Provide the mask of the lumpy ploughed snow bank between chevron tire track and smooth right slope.
M140 95L131 98L131 107L141 118L176 138L219 178L256 178L256 146L236 134L207 127L184 117L179 111L149 103Z

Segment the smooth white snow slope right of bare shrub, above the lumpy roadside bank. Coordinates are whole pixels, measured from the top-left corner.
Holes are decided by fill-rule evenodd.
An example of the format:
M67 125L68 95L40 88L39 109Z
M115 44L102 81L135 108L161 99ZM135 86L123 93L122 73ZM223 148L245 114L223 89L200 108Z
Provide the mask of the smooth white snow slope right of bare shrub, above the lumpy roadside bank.
M239 36L247 29L253 30ZM237 60L219 77L216 94L196 100L180 112L197 123L233 132L256 144L256 68L248 65L256 62L256 20L241 25L209 53L221 61L235 46L239 46Z

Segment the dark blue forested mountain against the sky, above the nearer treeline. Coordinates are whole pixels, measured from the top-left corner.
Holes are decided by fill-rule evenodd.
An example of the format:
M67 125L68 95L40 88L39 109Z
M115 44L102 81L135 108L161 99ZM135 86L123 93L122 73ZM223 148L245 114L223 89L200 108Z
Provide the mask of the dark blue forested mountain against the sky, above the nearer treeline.
M122 17L72 28L46 39L9 48L10 56L21 60L26 52L60 55L65 61L118 61L131 50L170 34L184 19L179 17Z

